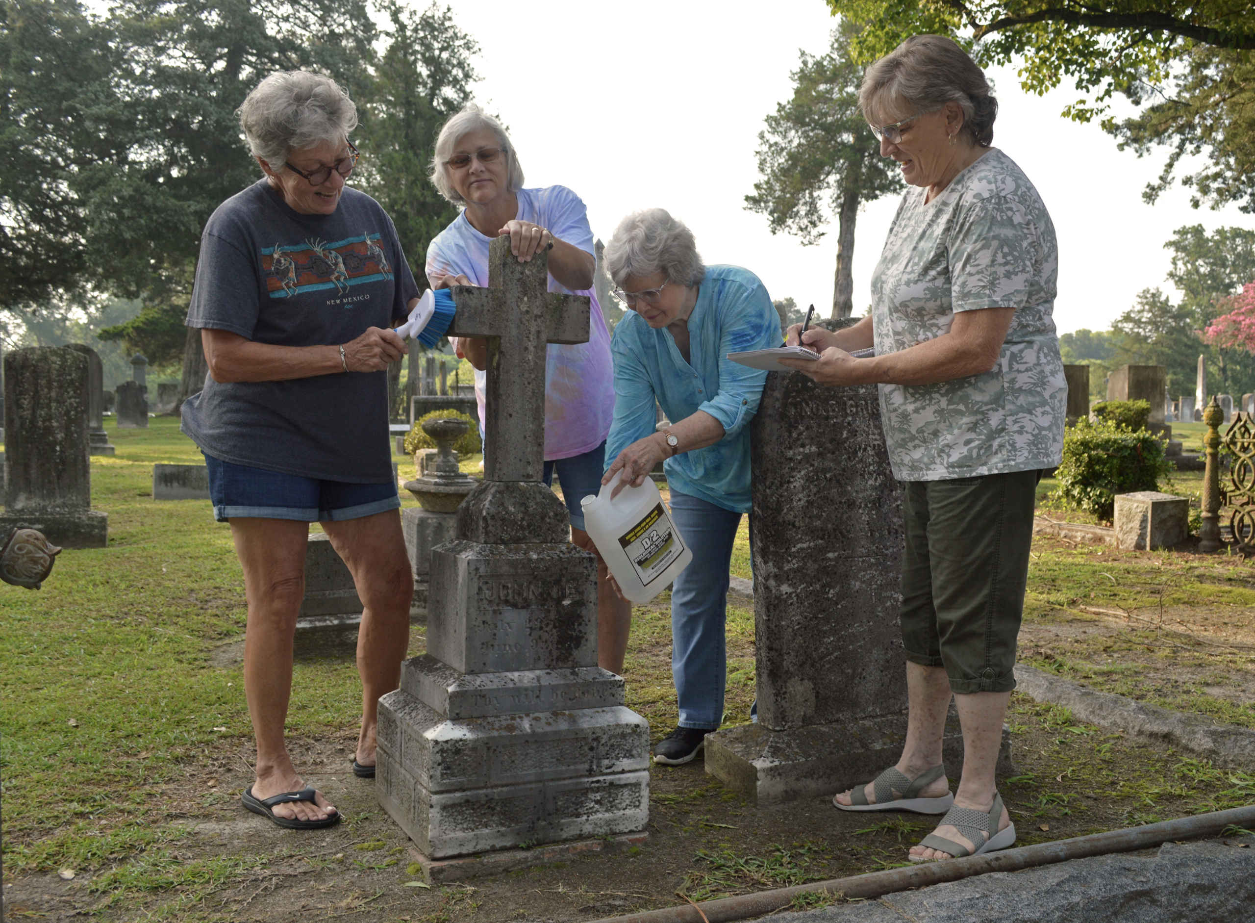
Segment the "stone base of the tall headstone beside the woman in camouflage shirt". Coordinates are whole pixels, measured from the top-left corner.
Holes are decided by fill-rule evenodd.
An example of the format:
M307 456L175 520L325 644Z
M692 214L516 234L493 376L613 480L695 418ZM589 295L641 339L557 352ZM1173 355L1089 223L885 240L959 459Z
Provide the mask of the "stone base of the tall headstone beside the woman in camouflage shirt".
M905 740L905 713L792 731L745 725L707 737L705 769L756 805L777 805L835 795L871 781L897 762ZM950 780L956 781L963 767L963 733L953 708L943 758ZM1010 731L1005 725L998 772L1012 772Z

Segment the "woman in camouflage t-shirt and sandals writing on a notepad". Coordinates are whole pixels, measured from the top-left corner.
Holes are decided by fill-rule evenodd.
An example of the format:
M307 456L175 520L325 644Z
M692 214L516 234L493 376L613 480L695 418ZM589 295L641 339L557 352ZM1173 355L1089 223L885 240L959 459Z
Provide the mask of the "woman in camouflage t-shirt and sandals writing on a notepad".
M862 111L912 187L872 278L870 316L811 329L823 384L880 386L894 475L904 481L901 627L910 718L896 766L841 792L842 810L943 814L915 861L1015 841L994 782L1015 688L1035 488L1060 461L1067 384L1050 318L1058 250L1037 190L990 147L998 104L980 68L936 35L868 68ZM797 343L798 329L789 332ZM875 357L850 350L875 347ZM941 766L955 698L964 766Z

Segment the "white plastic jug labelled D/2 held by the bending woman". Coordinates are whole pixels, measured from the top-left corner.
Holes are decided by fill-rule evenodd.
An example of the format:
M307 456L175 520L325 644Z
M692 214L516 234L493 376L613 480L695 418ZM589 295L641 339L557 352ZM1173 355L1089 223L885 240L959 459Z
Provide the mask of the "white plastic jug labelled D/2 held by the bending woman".
M600 494L580 501L584 529L622 594L634 603L648 603L689 566L693 551L671 522L651 477L610 499L621 476L622 471L616 471Z

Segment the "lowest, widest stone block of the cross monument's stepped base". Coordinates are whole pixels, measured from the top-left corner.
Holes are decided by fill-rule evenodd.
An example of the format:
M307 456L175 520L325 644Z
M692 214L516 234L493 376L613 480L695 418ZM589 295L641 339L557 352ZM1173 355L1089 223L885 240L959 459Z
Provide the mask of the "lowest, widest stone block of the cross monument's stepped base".
M649 723L622 706L448 720L379 701L379 802L432 859L640 830L648 769Z

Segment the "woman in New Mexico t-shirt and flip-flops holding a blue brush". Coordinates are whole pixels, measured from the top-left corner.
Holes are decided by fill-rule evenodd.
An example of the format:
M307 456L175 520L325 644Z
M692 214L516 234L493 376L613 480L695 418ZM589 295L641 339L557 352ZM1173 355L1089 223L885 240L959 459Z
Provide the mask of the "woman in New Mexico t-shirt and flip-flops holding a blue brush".
M356 108L304 72L262 80L240 123L264 177L213 212L201 236L188 327L210 374L183 402L218 521L243 568L243 676L257 777L243 805L275 824L340 815L305 785L284 740L309 524L320 521L361 599L356 775L374 775L379 697L395 689L413 580L388 447L387 368L407 353L390 328L418 300L397 230L345 186Z

